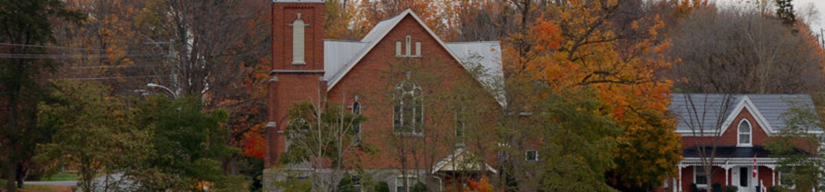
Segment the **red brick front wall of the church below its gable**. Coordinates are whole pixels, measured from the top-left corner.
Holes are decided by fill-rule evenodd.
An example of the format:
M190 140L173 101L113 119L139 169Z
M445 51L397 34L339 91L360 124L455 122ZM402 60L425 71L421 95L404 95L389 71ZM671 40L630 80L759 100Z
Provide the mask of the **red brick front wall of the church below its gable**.
M432 38L427 30L415 21L413 16L404 17L394 30L389 31L389 34L376 44L375 48L370 50L364 59L361 59L361 61L328 92L330 101L340 103L342 102L342 98L345 98L347 101L344 102L347 102L347 104L351 102L353 94L361 96L361 104L365 105L362 113L369 118L368 121L361 125L362 139L365 143L373 145L378 151L378 154L372 156L362 156L361 161L363 161L362 164L365 169L400 167L400 162L397 161L398 152L396 148L393 148L388 143L391 139L388 137L393 137L393 114L392 106L389 105L392 97L389 97L387 93L391 91L394 86L389 82L388 76L396 75L396 78L405 77L403 77L403 75L389 74L388 72L390 71L389 66L391 64L401 63L402 60L395 57L395 42L405 42L407 35L410 35L412 38L411 43L413 45L411 47L413 49L415 49L414 44L416 42L421 42L422 44L422 58L409 59L410 63L408 64L419 64L423 71L431 73L427 75L441 80L441 85L435 85L436 87L433 87L433 85L422 85L425 94L429 91L448 91L450 87L455 86L455 83L466 82L468 79L473 82L475 81L470 74L461 67L460 63L452 59L447 50L441 47L438 41ZM406 46L402 45L403 49L404 47ZM404 51L402 51L402 53L403 52ZM415 54L414 50L412 54ZM483 88L480 84L477 85L479 89ZM482 97L488 98L489 105L497 106L497 102L493 99L493 96L484 94ZM424 102L432 101L425 100ZM437 108L441 109L425 108L425 120L434 118L433 115L438 113L436 110L446 110L450 108L450 106ZM436 120L450 121L452 118L452 115L445 115L445 118ZM440 146L441 148L429 149L431 150L430 152L418 152L429 153L427 156L407 157L410 163L413 163L413 158L418 159L420 162L417 167L422 169L429 168L431 164L441 161L442 158L446 157L447 153L451 152L451 150L447 148L451 147L450 144L441 143L435 136L453 134L452 123L449 122L441 122L441 124L438 125L427 124L425 126L430 126L428 129L425 129L424 133L427 142L429 142L427 145L433 146L432 143L436 143L435 146ZM432 126L438 126L440 128L433 129ZM429 130L429 132L427 132L427 130Z

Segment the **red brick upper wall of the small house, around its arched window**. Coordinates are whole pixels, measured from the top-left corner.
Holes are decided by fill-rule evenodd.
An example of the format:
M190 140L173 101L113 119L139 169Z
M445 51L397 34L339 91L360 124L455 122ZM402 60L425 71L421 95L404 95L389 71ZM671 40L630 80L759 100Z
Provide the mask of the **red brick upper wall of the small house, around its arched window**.
M751 124L752 144L754 146L764 146L766 144L767 133L765 133L761 125L757 123L757 120L753 117L753 115L751 115L747 108L745 108L739 112L739 115L736 115L735 119L733 119L733 123L728 126L728 129L726 129L724 133L722 133L722 137L719 138L719 146L731 146L737 144L737 131L739 128L739 122L742 121L742 119L747 119L747 122ZM694 148L697 143L710 146L711 138L712 137L700 138L684 136L681 138L681 148Z

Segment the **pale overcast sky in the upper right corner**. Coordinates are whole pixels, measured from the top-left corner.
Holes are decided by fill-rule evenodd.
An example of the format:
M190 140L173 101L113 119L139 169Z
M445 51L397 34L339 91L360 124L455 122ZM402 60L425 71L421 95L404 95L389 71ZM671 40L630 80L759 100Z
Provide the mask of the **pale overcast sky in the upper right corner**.
M714 1L714 0L711 0ZM741 5L742 3L752 3L754 0L715 0L719 6L728 7L728 6L737 6ZM769 0L773 3L773 0ZM814 10L818 13L813 14L814 18L810 18L809 21L806 21L810 26L811 30L813 30L816 34L819 34L819 29L825 27L823 25L823 21L825 21L825 17L823 17L823 12L825 12L825 0L793 0L794 4L794 12L797 16L806 17L804 15L809 12L810 7L813 7ZM807 18L805 18L807 19Z

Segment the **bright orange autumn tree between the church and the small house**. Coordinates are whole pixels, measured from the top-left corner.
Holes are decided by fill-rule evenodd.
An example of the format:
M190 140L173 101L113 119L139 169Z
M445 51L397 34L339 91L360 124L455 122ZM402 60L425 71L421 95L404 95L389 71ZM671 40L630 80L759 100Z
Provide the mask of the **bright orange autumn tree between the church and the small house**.
M679 140L666 115L672 82L659 77L673 65L662 56L656 15L628 13L639 1L553 1L530 29L523 54L511 54L512 73L557 92L593 88L604 111L625 131L615 155L613 185L651 190L680 161ZM646 144L657 143L657 144ZM659 150L662 149L662 150ZM633 154L631 157L629 154ZM618 174L621 173L621 174Z

